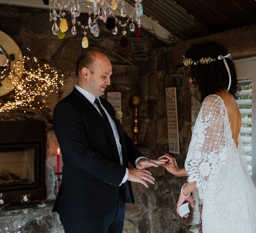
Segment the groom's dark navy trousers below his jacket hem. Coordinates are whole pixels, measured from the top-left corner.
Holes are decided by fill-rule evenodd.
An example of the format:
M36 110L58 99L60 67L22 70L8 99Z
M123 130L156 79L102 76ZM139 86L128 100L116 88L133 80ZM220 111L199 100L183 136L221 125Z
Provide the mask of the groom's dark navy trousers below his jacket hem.
M60 215L60 221L65 233L122 233L124 216L125 194L121 186L118 202L111 214L93 218L66 218Z

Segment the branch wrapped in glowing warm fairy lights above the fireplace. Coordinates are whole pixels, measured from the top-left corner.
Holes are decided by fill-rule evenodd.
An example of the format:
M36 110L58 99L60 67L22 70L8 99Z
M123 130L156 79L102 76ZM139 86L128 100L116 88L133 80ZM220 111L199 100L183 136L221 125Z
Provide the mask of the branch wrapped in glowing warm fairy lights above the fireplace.
M30 51L28 48L27 50ZM26 66L29 69L26 70ZM32 69L34 67L35 69ZM28 108L33 110L35 107L47 108L45 101L41 103L37 97L47 97L47 92L56 91L58 93L59 86L63 85L63 81L59 80L57 71L51 70L48 64L39 63L35 57L24 56L23 59L18 59L10 68L7 76L1 75L1 79L10 80L14 87L14 97L13 101L0 103L0 113L18 108L23 109L25 113ZM14 77L17 76L22 78L15 80ZM63 77L63 75L61 76Z

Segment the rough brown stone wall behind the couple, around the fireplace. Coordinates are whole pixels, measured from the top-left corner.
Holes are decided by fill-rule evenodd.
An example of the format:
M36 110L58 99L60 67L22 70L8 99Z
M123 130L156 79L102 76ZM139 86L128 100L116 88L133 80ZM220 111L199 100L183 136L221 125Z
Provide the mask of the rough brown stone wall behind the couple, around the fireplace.
M47 198L54 199L53 186L56 179L57 140L52 130L51 119L54 106L68 95L77 82L75 65L85 49L81 47L82 31L76 36L67 32L60 40L51 33L52 23L48 21L49 11L23 7L0 5L0 30L11 36L21 49L29 47L34 56L48 63L53 69L63 74L64 86L58 93L51 93L46 99L47 112L23 113L10 111L0 115L0 120L45 120L47 123L47 155L46 155L46 184ZM87 20L82 14L80 21ZM104 52L113 50L125 59L140 67L137 85L111 84L107 91L122 93L122 111L124 114L123 127L132 136L133 95L141 96L139 106L138 136L140 147L146 156L157 158L168 152L168 134L165 88L176 87L178 99L180 154L175 155L178 166L184 167L186 152L191 138L191 127L195 121L199 97L188 83L188 70L172 65L172 46L166 46L145 30L141 30L138 40L135 33L128 32L129 45L127 49L120 47L121 33L115 37L101 26L100 36L94 38L88 33L89 50ZM125 64L112 54L107 54L112 64ZM104 95L106 98L106 94ZM124 232L125 233L160 233L160 232L199 232L198 203L188 219L180 218L176 213L176 202L179 190L185 178L177 178L165 171L164 168L149 169L155 177L155 185L146 189L143 185L133 183L136 204L127 204ZM37 232L63 232L58 218L48 211L47 221L51 229L41 231L42 221L36 221ZM24 217L24 213L20 213ZM52 217L51 217L52 216ZM5 219L7 221L7 218ZM9 217L8 221L14 221ZM28 220L27 220L28 221ZM54 223L55 222L55 223Z

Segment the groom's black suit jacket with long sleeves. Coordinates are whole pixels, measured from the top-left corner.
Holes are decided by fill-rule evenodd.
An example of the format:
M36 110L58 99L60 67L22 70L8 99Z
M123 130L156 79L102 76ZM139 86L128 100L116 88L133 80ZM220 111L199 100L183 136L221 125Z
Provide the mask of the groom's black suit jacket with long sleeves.
M53 113L53 128L60 144L63 168L61 187L53 212L64 217L85 218L110 214L118 200L128 161L143 156L114 116L106 100L101 104L115 121L122 146L120 164L113 133L97 109L77 90L61 100ZM130 181L122 184L126 202L134 203Z

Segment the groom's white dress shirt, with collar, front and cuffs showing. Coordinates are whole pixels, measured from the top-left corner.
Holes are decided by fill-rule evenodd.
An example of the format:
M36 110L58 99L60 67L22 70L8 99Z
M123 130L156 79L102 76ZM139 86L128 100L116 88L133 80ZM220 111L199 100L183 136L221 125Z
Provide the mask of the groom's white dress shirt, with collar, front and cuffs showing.
M99 114L101 115L100 113L100 110L98 109L97 105L94 103L95 99L97 98L100 102L100 99L99 97L95 97L93 96L90 92L84 90L83 88L79 87L78 85L75 86L75 88L97 109L97 111L99 112ZM116 145L117 145L117 149L118 149L118 153L119 153L119 157L120 157L120 163L123 165L123 155L122 155L122 146L119 142L119 134L118 134L118 131L117 131L117 128L116 128L116 125L115 125L115 122L114 120L112 119L112 117L109 115L109 113L106 111L106 109L104 108L104 106L101 104L100 102L100 106L101 108L104 110L104 112L106 113L107 117L108 117L108 120L109 120L109 123L111 125L111 128L113 130L113 134L114 134L114 137L115 137L115 140L116 140ZM137 162L141 159L141 158L145 158L147 159L146 157L138 157L135 161L135 165L137 165ZM125 183L125 181L127 180L128 178L128 174L129 174L129 170L128 168L126 168L126 172L125 172L125 175L124 175L124 178L121 182L121 184ZM120 184L120 185L121 185ZM119 185L119 186L120 186Z

